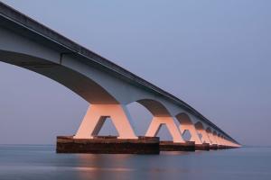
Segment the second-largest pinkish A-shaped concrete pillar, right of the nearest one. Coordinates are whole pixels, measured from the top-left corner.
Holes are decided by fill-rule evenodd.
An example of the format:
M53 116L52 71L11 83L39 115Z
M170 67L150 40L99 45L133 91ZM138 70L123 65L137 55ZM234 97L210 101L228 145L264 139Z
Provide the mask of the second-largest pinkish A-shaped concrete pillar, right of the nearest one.
M146 137L155 137L161 126L165 125L173 137L173 142L185 142L182 139L182 135L178 130L173 117L154 117L145 136Z

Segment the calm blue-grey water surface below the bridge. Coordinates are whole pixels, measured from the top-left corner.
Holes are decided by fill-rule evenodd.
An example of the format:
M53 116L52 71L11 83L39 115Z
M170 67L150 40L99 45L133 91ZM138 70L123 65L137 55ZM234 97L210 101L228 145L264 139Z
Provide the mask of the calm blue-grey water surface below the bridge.
M271 179L271 148L161 155L56 154L53 146L0 145L0 179Z

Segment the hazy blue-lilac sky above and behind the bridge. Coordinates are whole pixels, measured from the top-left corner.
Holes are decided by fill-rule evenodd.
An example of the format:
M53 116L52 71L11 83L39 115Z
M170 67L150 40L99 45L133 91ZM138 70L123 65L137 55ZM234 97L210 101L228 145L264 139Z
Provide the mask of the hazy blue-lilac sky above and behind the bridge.
M271 1L2 2L176 95L241 144L271 146ZM0 62L0 144L53 144L76 132L88 106ZM128 108L143 135L150 113Z

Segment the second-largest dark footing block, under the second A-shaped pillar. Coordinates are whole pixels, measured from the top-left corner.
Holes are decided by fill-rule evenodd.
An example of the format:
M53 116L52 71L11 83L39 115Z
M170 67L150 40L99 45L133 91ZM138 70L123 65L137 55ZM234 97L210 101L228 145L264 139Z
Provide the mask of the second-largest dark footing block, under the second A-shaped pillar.
M195 142L160 141L160 151L195 151Z

